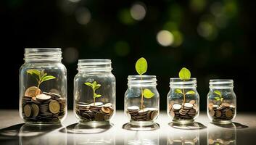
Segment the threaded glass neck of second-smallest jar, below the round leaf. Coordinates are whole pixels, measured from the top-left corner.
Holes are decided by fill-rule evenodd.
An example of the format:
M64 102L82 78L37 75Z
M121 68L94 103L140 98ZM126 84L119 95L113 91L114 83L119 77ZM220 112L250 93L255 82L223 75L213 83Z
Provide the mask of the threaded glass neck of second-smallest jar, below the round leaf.
M193 88L197 87L197 78L181 80L180 78L170 78L170 87L173 88Z

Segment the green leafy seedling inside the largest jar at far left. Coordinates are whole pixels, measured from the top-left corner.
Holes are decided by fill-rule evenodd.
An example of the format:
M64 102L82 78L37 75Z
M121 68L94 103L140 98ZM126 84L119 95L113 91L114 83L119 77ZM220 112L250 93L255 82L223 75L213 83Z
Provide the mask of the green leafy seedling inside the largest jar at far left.
M36 81L38 82L37 88L39 88L41 83L43 83L44 81L55 79L54 76L47 75L47 73L45 73L44 70L27 70L27 73L32 75L33 78L36 79Z

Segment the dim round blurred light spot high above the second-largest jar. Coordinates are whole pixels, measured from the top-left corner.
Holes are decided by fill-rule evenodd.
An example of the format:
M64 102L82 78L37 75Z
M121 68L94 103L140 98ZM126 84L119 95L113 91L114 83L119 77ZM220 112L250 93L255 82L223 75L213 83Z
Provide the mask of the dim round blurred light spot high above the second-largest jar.
M91 20L91 12L86 7L80 7L75 11L75 19L80 25L86 25Z

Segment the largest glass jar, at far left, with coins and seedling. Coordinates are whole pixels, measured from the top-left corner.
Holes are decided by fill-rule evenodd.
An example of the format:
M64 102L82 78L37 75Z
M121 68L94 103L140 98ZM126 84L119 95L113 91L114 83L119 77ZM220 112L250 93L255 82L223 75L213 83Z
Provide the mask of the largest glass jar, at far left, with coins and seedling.
M61 49L25 49L20 67L20 117L25 123L52 124L67 112L67 70Z

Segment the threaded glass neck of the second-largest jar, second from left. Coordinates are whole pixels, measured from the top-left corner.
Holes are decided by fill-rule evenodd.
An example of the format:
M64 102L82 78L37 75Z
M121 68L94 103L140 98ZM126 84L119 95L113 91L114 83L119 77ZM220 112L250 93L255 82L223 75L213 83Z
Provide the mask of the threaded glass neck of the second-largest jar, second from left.
M78 72L111 72L110 59L79 59Z

